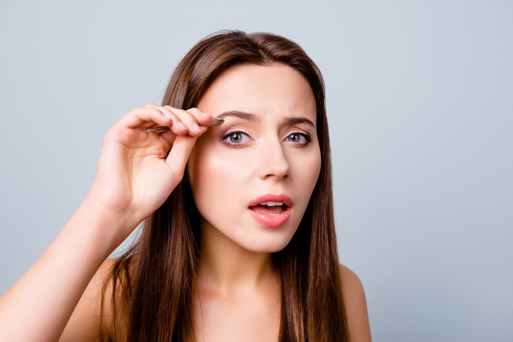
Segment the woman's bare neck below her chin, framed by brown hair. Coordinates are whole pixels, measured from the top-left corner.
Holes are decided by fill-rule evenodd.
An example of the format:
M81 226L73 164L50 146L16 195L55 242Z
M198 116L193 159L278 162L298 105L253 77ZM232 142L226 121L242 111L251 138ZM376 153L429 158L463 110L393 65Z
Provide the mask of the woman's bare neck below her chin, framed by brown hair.
M270 253L248 251L209 225L202 227L200 246L200 287L232 296L276 285Z

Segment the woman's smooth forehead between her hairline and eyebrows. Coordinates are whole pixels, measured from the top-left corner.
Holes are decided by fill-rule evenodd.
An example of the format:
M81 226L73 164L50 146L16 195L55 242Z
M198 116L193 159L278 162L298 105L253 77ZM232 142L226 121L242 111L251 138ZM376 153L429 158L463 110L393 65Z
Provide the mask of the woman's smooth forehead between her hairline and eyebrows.
M230 67L207 89L198 108L216 115L241 110L307 116L315 122L315 97L305 78L293 68L243 64Z

